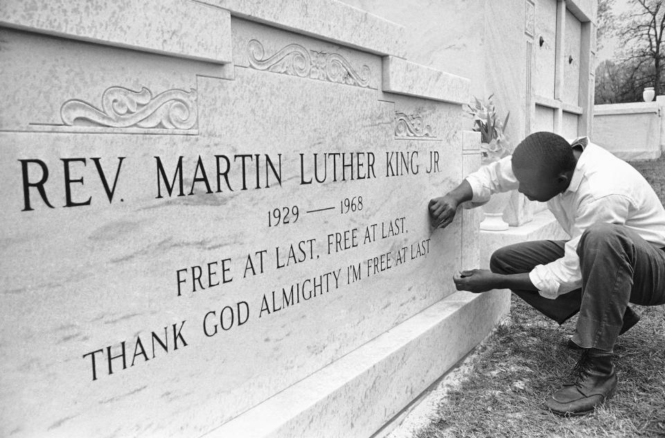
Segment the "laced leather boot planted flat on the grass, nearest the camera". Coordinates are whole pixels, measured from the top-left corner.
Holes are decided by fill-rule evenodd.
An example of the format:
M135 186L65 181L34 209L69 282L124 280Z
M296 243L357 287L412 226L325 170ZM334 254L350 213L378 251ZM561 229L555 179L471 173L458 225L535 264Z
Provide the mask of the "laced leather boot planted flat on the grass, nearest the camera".
M581 415L614 395L617 374L612 353L592 353L585 349L569 379L546 402L549 410L559 415Z

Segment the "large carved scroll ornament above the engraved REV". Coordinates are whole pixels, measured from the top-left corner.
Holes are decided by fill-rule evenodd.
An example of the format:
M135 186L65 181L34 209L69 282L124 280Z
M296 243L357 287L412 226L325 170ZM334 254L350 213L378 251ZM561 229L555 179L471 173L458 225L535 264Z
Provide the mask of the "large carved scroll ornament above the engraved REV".
M102 109L72 99L62 105L60 116L68 126L188 130L197 122L196 90L171 89L153 97L145 87L110 87L102 95Z

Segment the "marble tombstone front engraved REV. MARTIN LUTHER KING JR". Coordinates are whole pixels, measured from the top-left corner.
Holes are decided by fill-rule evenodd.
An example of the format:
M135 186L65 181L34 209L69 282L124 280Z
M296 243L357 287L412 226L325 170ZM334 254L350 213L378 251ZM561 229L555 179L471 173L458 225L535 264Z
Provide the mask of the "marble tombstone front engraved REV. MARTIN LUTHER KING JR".
M2 436L202 436L454 292L460 220L426 207L463 176L459 104L135 4L2 7Z

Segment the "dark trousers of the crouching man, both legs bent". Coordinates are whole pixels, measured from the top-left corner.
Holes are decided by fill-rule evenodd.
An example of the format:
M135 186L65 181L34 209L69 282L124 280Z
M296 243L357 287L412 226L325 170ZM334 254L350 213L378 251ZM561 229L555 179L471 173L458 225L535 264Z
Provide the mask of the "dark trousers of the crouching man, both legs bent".
M535 240L497 249L490 270L530 272L564 254L565 240ZM513 290L545 316L562 324L579 313L573 341L583 348L612 350L632 313L629 303L665 304L665 250L621 225L598 223L585 230L577 247L582 288L556 299L530 290Z

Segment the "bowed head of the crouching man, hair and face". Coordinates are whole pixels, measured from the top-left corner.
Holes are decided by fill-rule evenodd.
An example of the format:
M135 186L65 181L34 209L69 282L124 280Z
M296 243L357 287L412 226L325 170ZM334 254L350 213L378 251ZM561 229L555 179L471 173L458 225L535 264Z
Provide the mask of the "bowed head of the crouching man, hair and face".
M545 202L565 191L577 160L570 144L552 132L535 132L513 152L517 191L532 201Z

